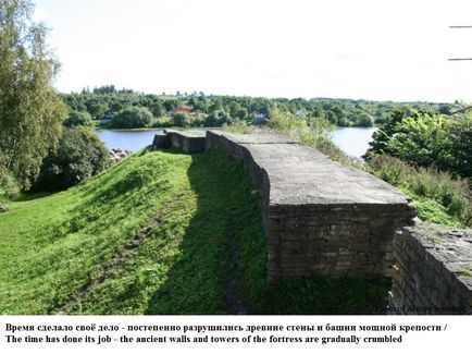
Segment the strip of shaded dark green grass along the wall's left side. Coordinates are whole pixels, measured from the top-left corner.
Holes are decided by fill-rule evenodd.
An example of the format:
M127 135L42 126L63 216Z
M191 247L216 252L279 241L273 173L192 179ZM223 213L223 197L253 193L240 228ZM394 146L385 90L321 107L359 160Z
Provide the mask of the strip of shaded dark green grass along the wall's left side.
M172 151L171 151L172 152ZM195 154L188 169L197 211L179 246L178 260L153 293L146 314L226 314L226 181L209 154Z

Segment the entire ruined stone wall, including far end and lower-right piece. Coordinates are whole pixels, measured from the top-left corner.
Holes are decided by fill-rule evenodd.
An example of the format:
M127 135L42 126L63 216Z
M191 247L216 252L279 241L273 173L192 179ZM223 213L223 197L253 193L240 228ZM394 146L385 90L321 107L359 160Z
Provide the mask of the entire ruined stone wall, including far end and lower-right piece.
M243 162L260 194L269 282L387 276L395 313L471 313L471 233L418 222L392 185L272 133L165 133L154 147L218 148Z

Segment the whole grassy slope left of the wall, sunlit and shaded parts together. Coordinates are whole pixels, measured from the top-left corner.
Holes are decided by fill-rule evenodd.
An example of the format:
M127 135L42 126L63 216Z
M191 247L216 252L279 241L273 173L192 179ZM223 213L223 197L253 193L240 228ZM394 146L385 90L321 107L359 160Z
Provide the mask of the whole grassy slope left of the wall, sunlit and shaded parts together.
M359 313L385 280L265 283L258 195L219 151L141 151L0 216L0 314Z

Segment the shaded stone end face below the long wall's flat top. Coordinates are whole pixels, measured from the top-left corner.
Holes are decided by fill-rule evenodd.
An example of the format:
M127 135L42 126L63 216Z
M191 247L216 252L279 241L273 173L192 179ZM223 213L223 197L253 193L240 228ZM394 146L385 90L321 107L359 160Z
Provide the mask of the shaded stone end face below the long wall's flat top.
M395 231L410 222L410 212L397 205L271 206L271 270L281 279L390 277Z

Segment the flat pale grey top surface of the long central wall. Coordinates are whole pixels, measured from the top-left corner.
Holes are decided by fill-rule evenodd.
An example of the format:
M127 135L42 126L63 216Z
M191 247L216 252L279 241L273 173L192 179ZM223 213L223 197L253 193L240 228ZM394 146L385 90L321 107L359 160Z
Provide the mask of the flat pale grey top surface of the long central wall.
M386 182L341 166L321 152L276 134L234 135L211 131L244 146L270 180L270 205L408 205Z

